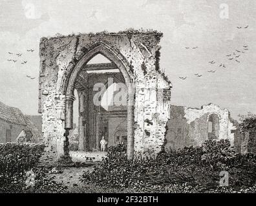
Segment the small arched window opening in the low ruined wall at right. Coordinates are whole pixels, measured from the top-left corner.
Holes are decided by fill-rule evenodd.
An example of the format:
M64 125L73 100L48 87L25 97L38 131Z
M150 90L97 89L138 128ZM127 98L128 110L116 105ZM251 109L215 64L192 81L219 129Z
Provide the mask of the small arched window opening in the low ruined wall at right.
M219 115L217 115L217 114L209 115L209 117L208 117L208 139L219 138L219 125L220 125Z

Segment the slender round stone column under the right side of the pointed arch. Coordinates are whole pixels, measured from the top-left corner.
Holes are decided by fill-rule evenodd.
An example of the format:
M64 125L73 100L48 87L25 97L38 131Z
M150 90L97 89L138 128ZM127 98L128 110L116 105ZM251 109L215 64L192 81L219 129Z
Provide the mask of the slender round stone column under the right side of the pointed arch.
M127 94L127 159L134 155L134 94Z

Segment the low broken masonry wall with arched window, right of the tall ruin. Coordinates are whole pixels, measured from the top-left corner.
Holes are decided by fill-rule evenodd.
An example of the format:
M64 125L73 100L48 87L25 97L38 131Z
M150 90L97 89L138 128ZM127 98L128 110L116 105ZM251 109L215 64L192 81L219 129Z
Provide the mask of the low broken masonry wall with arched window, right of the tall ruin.
M171 106L171 118L167 122L165 148L180 149L191 145L201 145L211 138L208 135L210 115L219 117L217 140L228 139L234 145L237 127L229 117L228 109L221 109L215 104L202 106L200 109L183 106Z

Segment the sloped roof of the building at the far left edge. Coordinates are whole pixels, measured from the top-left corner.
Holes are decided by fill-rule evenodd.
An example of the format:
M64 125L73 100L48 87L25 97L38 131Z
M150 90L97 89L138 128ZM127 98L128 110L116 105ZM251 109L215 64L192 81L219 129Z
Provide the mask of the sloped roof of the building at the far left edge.
M26 122L23 118L23 113L17 109L7 106L0 102L0 119L11 124L19 124L26 126Z

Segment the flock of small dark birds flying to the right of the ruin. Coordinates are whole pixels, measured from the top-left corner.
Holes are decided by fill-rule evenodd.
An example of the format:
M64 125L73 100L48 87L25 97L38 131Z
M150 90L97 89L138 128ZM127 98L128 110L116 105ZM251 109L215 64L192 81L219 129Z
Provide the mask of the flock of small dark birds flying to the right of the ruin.
M238 29L241 29L241 28L245 28L245 29L246 29L246 28L248 28L248 27L249 27L249 26L245 26L245 27L237 26ZM235 61L235 62L237 62L237 63L240 63L239 57L240 57L243 53L246 53L246 52L249 50L248 47L249 47L248 45L244 45L244 46L242 46L242 48L237 49L237 50L231 52L230 54L226 55L226 57L228 57L228 61ZM195 50L195 49L198 48L198 46L192 47L192 48L190 48L190 47L185 47L185 48L186 48L186 50L189 50L189 49ZM213 61L209 61L208 63L211 64L211 65L217 64L217 62L215 62L214 60L213 60ZM222 63L219 64L219 67L221 67L221 68L226 68L226 64L224 64L224 63L222 62ZM208 70L208 73L215 73L216 71L217 71L217 70ZM197 76L197 77L202 77L202 74L200 74L200 73L195 73L194 75ZM178 77L178 78L180 78L180 79L182 79L182 80L186 80L186 79L187 79L187 77Z

